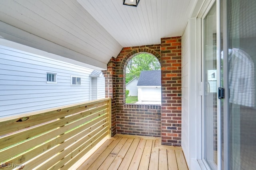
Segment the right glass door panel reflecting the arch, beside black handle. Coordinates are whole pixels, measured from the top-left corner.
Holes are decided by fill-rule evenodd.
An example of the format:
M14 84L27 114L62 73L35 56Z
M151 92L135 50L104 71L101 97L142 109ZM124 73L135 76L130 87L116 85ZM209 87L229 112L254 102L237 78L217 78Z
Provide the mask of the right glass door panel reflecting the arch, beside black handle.
M255 170L256 2L228 0L227 6L229 169Z

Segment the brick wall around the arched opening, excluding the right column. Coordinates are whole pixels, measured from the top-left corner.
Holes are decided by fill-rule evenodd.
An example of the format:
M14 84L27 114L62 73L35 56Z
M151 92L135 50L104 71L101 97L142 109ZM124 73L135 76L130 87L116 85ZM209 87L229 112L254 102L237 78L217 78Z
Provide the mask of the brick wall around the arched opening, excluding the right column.
M116 133L160 137L160 106L125 104L126 65L140 53L150 53L160 62L160 45L125 47L116 57Z

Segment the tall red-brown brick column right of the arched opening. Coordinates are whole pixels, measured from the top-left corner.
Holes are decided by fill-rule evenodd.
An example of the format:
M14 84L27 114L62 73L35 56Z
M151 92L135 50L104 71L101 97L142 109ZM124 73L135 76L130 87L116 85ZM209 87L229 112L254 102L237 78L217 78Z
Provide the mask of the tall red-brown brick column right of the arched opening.
M181 37L161 39L162 145L181 146Z

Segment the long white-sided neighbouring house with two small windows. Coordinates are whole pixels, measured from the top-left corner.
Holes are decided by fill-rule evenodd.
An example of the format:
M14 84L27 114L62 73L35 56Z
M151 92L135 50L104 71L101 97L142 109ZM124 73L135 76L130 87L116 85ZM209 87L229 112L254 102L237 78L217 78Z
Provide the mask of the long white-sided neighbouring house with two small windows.
M0 117L89 101L92 72L0 45ZM96 82L104 91L105 82L100 77Z

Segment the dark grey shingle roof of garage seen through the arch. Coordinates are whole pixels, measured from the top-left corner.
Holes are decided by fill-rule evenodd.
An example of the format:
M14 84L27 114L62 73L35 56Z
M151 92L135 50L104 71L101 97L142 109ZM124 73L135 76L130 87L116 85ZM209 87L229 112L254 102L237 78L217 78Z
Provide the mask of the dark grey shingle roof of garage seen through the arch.
M161 70L141 71L137 86L161 86Z

